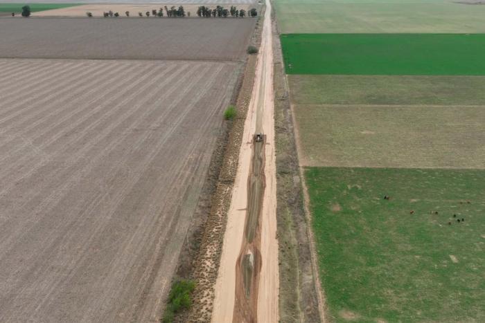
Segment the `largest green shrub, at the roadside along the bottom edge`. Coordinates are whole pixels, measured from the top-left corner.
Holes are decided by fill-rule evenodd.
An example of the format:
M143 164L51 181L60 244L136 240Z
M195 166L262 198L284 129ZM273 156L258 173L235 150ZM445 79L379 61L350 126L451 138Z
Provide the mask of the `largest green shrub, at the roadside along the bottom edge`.
M168 304L165 309L164 318L161 322L173 322L175 313L191 308L192 292L195 289L195 282L191 280L179 280L174 282L170 294L168 295Z

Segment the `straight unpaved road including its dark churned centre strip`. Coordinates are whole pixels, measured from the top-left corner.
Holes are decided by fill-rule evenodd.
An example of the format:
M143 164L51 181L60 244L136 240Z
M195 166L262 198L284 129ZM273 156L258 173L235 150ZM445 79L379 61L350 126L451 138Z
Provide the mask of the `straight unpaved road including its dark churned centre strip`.
M266 6L254 89L215 285L215 323L278 322L279 318L270 1ZM262 144L254 142L254 133L258 132L265 135Z

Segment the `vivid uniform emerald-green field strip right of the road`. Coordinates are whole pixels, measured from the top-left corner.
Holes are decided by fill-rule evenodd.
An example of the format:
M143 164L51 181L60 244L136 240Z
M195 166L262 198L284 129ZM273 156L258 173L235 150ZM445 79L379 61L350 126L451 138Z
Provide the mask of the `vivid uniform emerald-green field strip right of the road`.
M485 75L485 34L285 34L286 73Z

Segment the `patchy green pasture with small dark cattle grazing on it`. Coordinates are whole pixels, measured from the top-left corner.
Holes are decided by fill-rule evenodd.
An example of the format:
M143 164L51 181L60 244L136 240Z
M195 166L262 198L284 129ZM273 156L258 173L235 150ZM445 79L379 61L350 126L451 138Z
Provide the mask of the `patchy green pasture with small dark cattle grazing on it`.
M305 177L337 322L485 322L485 170L308 168Z

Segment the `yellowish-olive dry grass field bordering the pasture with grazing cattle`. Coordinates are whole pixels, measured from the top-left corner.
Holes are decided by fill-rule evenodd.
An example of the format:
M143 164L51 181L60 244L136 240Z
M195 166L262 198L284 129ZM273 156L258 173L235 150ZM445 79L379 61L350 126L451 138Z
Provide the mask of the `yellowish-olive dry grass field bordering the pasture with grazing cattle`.
M485 107L297 105L308 166L485 168Z

